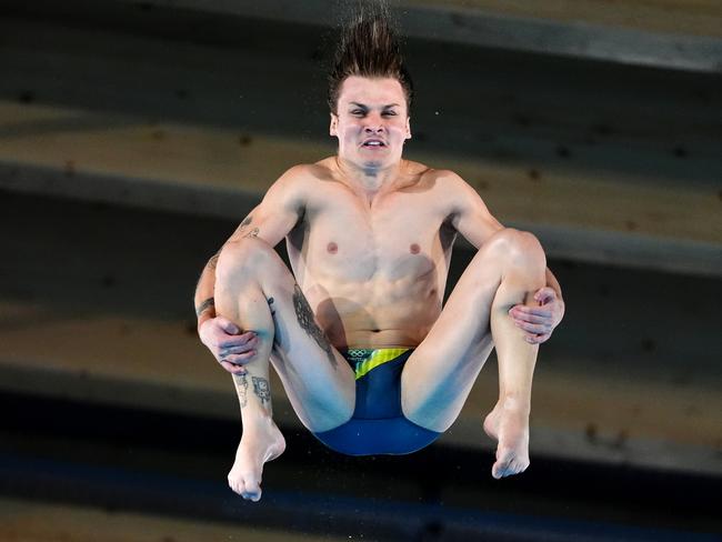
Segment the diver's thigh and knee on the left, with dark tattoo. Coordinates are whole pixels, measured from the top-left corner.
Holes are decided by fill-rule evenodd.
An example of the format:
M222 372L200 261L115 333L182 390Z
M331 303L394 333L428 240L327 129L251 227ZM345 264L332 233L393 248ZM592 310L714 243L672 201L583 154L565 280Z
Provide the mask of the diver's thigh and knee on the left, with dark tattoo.
M264 313L265 319L270 314L270 359L303 424L318 432L344 423L353 414L353 371L329 343L293 274L277 252L257 239L245 239L240 244L231 248L234 252L227 253L224 249L221 253L218 280L232 280L235 273L245 283L239 288L241 311Z

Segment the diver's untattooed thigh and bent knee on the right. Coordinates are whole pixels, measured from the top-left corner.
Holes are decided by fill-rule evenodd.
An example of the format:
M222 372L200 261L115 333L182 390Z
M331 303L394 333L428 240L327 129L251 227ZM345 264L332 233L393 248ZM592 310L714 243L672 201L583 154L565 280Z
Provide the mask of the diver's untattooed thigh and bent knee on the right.
M492 314L509 318L539 283L543 264L530 233L504 229L484 242L401 375L401 404L411 421L432 431L453 423L493 348Z

